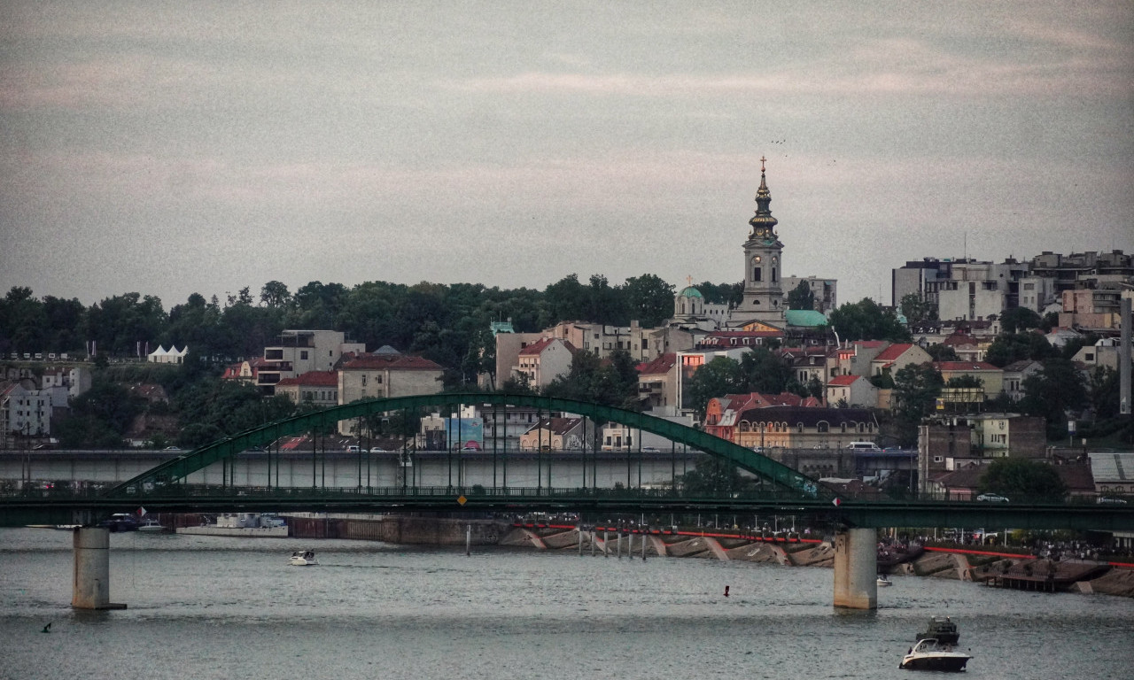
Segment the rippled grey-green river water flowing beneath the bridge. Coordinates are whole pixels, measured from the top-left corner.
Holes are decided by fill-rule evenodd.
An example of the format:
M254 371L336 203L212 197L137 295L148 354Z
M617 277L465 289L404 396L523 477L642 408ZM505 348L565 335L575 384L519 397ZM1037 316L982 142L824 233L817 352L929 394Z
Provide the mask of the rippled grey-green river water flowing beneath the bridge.
M78 612L69 533L0 545L2 678L908 679L934 614L971 678L1134 678L1134 601L1106 595L895 577L846 612L830 569L129 533L111 534L129 609ZM319 567L287 564L304 547Z

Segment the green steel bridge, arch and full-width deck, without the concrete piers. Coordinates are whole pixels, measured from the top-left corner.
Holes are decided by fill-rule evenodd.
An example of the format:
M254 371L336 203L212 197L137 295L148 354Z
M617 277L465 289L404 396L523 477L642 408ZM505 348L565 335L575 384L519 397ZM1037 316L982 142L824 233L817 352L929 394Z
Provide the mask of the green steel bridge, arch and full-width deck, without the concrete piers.
M445 486L411 485L408 479L397 486L327 487L313 475L311 486L239 487L228 482L203 486L186 484L186 478L209 466L228 466L242 452L260 449L280 437L305 432L325 432L344 419L366 418L395 411L441 413L458 410L462 405L476 405L485 419L507 413L509 406L535 409L538 414L570 413L593 423L618 423L650 432L672 442L679 449L709 457L721 469L744 470L759 481L756 485L731 488L727 485L712 492L691 493L674 484L669 488L587 486L584 471L582 485L561 487L490 486L463 487L451 482ZM411 435L413 433L405 433ZM585 468L587 457L598 452L596 437L585 437L592 447L572 454L581 457ZM641 441L641 437L638 437ZM499 440L493 440L499 441ZM408 440L407 440L408 442ZM408 447L403 454L408 453ZM507 460L518 451L490 451ZM488 454L489 451L485 451ZM665 452L662 452L665 453ZM641 451L638 452L641 456ZM277 451L278 456L278 451ZM451 452L450 465L454 458ZM532 453L527 452L531 457ZM536 458L543 452L536 451ZM312 465L318 465L319 451L312 451ZM269 481L272 451L266 451ZM542 461L538 460L538 465ZM549 461L550 464L550 461ZM279 465L277 458L277 466ZM493 462L493 465L496 465ZM550 473L549 473L550 474ZM727 475L731 478L731 475ZM576 481L577 482L577 481ZM592 481L593 482L593 481ZM818 524L838 527L940 527L940 526L1010 526L1034 529L1134 530L1134 504L1097 504L1093 502L1061 503L979 503L939 499L860 500L841 498L833 490L771 458L744 447L709 435L700 430L662 418L628 411L601 403L538 397L459 392L398 397L356 401L320 411L294 416L201 447L169 460L112 488L98 493L58 492L44 496L23 493L0 499L0 524L90 524L110 512L133 511L145 507L151 512L219 512L219 511L372 511L372 512L514 512L569 511L582 513L776 513L809 516ZM76 521L76 520L81 521Z

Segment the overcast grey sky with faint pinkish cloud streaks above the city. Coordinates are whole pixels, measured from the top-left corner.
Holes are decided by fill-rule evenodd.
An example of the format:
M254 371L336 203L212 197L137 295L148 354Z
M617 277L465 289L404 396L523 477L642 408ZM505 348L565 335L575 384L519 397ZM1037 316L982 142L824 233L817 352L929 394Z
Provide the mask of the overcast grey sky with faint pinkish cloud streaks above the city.
M8 2L0 295L1134 250L1134 3Z

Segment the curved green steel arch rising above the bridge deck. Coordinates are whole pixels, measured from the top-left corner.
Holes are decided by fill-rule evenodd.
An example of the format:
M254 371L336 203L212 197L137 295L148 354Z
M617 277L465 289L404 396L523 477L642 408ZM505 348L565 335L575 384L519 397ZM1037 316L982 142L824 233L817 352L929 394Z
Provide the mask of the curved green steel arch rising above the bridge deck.
M138 488L147 483L181 479L214 462L231 459L239 452L253 447L263 447L281 436L299 434L312 430L324 430L328 426L337 424L339 420L398 410L421 410L430 407L446 407L443 413L451 413L451 409L448 407L459 405L491 406L493 409L503 409L509 406L528 407L549 413L565 411L578 414L596 423L619 423L627 427L663 436L672 441L675 447L677 444L685 444L686 447L702 451L722 460L726 465L746 470L801 499L821 500L835 498L830 490L826 488L819 482L786 465L756 453L751 449L663 418L601 403L576 401L574 399L481 392L451 392L370 399L345 403L321 411L293 416L195 449L185 456L169 460L132 479L122 482L108 490L105 495L109 498L124 496L128 493L137 492Z

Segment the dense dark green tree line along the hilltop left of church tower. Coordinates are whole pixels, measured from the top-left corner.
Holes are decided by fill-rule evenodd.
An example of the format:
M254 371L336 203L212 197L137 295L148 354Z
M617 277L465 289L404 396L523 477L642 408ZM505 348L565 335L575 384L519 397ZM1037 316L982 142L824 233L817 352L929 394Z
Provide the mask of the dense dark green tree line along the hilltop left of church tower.
M705 284L706 288L714 288ZM720 284L719 288L729 288ZM0 299L0 352L74 352L133 357L149 346L186 347L200 360L221 363L259 356L286 328L342 331L367 349L389 345L459 371L491 342L489 324L510 320L517 332L560 321L651 328L671 316L674 287L654 274L611 284L576 274L548 286L500 289L476 283L414 286L367 281L354 287L312 281L294 292L269 281L255 296L243 288L225 299L194 292L169 309L156 296L127 292L90 306L78 299L36 298L12 287ZM473 367L475 368L475 367Z

